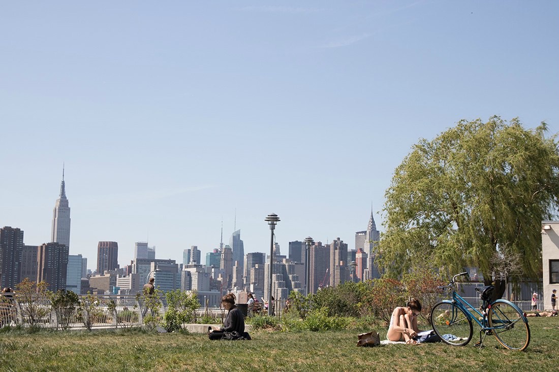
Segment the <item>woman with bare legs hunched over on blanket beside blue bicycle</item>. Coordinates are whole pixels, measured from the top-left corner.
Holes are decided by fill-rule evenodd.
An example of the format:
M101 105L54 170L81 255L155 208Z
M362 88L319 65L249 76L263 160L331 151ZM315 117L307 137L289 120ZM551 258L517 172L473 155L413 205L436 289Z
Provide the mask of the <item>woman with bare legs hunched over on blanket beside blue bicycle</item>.
M390 317L390 326L386 338L389 341L406 341L406 344L418 344L413 338L420 332L417 319L420 313L421 303L416 298L410 299L406 307L395 308Z

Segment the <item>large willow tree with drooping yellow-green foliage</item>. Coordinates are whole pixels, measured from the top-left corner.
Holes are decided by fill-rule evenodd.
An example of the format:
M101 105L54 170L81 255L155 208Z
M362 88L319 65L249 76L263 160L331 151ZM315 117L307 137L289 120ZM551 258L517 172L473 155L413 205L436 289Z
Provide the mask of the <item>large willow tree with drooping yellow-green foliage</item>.
M559 209L557 135L546 133L494 116L420 140L386 190L386 272L477 267L499 297L505 280L541 278L541 221Z

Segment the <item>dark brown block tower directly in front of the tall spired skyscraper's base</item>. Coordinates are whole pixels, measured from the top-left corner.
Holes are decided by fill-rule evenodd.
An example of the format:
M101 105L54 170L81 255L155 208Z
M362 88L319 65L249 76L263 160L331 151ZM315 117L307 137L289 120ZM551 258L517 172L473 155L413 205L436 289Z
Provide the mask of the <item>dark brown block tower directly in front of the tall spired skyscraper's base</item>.
M51 292L65 290L67 270L68 247L66 245L51 242L37 247L37 283L48 283Z

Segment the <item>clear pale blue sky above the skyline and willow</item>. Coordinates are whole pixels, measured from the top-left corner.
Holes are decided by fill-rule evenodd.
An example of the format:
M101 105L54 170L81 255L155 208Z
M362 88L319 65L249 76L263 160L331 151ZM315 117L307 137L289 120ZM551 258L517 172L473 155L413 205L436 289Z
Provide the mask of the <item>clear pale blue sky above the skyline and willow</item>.
M182 261L241 230L354 247L423 137L462 119L559 132L557 1L1 1L0 225L70 254ZM555 46L554 46L555 45ZM382 215L375 214L382 231Z

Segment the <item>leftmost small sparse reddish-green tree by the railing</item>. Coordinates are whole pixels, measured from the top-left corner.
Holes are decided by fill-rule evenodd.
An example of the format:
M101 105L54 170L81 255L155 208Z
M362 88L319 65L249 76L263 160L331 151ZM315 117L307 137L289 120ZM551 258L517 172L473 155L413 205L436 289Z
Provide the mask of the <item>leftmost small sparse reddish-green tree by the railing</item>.
M16 285L16 300L20 304L23 322L30 328L39 326L42 319L50 313L46 282L32 282L29 278Z

